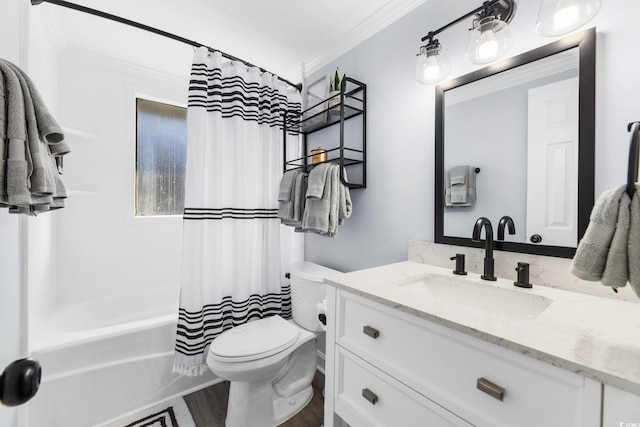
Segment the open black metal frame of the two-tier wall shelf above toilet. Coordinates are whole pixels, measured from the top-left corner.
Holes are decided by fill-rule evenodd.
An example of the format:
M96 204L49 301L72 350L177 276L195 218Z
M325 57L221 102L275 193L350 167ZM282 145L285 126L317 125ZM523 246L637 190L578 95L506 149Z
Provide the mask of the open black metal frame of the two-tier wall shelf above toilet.
M344 92L324 99L302 112L293 110L285 112L283 124L284 172L293 169L303 169L305 172L309 172L314 166L321 163L338 163L340 165L340 180L343 184L351 189L366 188L367 85L350 77L345 77L345 80L347 81L347 86ZM330 101L333 100L338 103L329 106ZM344 142L345 122L356 117L360 117L362 121L361 149L346 147ZM307 146L308 135L336 125L339 126L340 129L339 144L334 148L326 149L326 161L312 163L311 157L313 154L310 153L309 147ZM287 134L302 135L302 149L303 153L305 153L303 157L287 160ZM361 181L346 182L343 170L345 167L354 165L361 165Z

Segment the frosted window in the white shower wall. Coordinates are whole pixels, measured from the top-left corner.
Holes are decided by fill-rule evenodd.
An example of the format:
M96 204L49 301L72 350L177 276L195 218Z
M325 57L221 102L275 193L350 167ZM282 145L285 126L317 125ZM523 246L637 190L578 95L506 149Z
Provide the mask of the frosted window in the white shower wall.
M136 99L136 216L182 215L187 109Z

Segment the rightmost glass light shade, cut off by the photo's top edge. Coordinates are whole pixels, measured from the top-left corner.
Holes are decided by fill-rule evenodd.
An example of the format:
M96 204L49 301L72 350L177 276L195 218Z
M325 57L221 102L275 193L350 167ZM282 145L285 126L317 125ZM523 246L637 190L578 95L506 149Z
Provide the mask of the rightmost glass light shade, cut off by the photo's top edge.
M601 7L601 0L542 0L536 32L548 37L570 33L589 22Z

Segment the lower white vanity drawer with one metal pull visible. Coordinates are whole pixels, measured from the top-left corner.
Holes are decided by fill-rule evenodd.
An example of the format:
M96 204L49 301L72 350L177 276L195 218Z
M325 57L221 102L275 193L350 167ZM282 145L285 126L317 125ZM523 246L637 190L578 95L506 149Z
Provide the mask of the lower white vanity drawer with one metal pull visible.
M470 426L339 346L336 362L335 409L351 427Z

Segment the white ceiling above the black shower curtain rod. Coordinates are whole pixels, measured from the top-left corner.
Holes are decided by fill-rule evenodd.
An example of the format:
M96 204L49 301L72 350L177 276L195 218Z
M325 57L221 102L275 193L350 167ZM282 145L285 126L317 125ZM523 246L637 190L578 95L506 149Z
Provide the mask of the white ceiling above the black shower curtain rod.
M299 81L425 0L75 0L219 49ZM98 52L170 73L192 48L156 34L44 3L56 47ZM186 67L186 68L185 68Z

